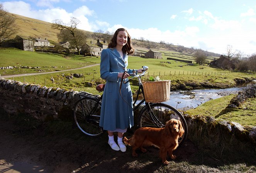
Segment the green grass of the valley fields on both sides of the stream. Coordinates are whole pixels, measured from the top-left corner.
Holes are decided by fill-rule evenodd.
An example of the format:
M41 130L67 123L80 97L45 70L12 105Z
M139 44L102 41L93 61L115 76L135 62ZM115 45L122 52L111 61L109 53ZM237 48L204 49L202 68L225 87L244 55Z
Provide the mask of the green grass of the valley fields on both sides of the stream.
M167 63L171 62L171 63ZM26 52L13 48L0 49L0 67L6 66L30 66L40 67L38 69L45 70L45 72L56 72L61 70L68 70L73 68L85 67L87 65L100 63L99 57L84 57L84 56L64 56L52 53L39 53L39 52ZM203 83L210 82L226 84L235 86L236 82L234 78L256 78L256 74L230 72L216 68L210 68L209 66L200 65L187 65L187 63L176 62L173 60L158 60L151 58L140 58L129 56L129 68L138 69L142 65L149 67L148 73L142 80L148 81L151 76L159 76L161 80L171 80L171 85L180 85L185 82ZM55 68L54 68L55 67ZM23 73L39 73L37 68L14 68L0 70L0 75L15 75ZM83 74L82 78L73 78L70 82L66 82L65 76L69 76L71 73ZM51 81L54 78L54 83ZM41 75L31 75L25 77L9 78L24 83L34 83L46 87L62 88L67 90L87 91L93 94L101 94L95 90L95 86L98 83L105 83L100 78L100 66L82 68L78 70L70 70L66 72L56 72ZM131 87L133 93L138 89L137 80L131 81ZM244 125L256 125L255 118L249 116L252 112L255 113L255 100L246 102L245 107L248 113L243 113L245 110L232 110L229 112L223 112L222 110L228 105L232 96L226 96L219 99L211 100L203 105L198 106L196 109L189 110L188 113L193 115L210 115L215 118L222 118L231 121L236 121ZM220 114L220 112L222 113ZM243 112L242 112L243 111ZM251 111L251 112L250 112ZM232 118L230 115L232 113ZM233 116L234 115L234 116Z

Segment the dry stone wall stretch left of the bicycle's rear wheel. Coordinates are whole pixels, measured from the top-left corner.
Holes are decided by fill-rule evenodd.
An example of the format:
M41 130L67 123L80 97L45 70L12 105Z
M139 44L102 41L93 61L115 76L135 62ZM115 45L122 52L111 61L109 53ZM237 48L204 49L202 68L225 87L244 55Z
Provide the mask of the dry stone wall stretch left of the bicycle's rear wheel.
M0 78L0 106L8 113L29 113L46 121L71 119L78 91L42 87Z

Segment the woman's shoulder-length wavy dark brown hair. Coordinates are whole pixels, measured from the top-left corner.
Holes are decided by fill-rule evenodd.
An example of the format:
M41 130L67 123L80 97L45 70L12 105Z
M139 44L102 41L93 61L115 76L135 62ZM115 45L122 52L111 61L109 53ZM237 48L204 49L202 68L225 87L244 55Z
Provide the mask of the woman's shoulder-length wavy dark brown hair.
M131 36L129 35L127 30L125 30L125 28L119 28L115 31L113 38L109 43L109 48L114 48L117 45L117 35L119 31L124 31L127 33L127 43L123 46L122 51L124 53L127 53L128 55L132 54L134 52L134 48L132 46Z

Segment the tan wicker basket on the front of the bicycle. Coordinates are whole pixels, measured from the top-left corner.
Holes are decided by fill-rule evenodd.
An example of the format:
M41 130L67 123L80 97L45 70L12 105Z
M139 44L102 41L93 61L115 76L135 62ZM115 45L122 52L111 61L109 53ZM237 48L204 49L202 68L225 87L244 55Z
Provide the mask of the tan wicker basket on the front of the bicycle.
M146 102L160 103L170 100L170 80L142 82L142 86Z

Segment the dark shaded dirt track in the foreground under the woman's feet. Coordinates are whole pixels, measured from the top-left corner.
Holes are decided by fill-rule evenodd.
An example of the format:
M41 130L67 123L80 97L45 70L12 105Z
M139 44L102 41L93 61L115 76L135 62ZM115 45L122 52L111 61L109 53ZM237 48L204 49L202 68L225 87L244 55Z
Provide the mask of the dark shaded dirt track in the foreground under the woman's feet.
M253 173L254 163L244 158L235 162L229 156L214 158L187 139L168 166L161 163L158 149L148 147L138 157L127 151L114 151L107 133L100 137L84 135L72 122L38 122L29 115L6 115L0 110L0 173ZM132 130L125 133L132 136ZM117 138L117 136L115 136ZM241 155L242 156L242 155ZM255 162L255 161L254 161Z

